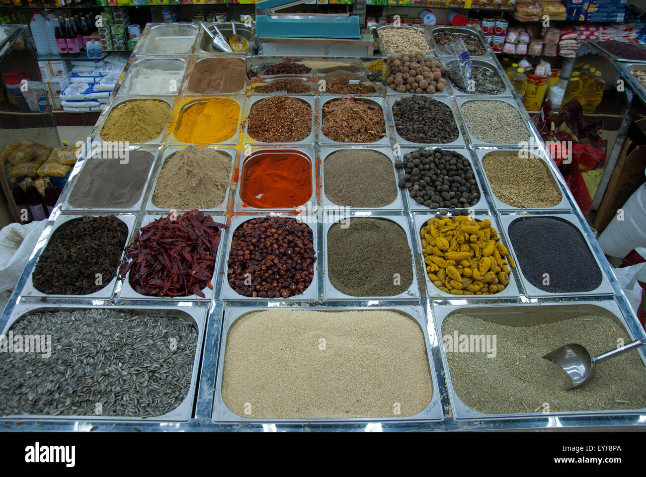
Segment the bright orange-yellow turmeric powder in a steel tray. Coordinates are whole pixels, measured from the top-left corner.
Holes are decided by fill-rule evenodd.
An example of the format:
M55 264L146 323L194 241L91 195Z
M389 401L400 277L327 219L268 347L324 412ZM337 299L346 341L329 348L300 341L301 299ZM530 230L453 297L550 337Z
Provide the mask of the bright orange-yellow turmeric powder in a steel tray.
M183 112L175 137L186 143L213 144L233 137L240 122L240 105L229 98L213 98Z

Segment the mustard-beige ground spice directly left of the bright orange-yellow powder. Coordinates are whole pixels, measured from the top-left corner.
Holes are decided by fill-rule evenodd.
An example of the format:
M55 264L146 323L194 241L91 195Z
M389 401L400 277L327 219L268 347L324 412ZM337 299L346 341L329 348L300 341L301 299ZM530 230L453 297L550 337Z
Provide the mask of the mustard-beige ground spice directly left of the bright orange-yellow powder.
M165 101L128 101L110 112L101 129L101 139L132 143L152 141L171 120L171 109Z

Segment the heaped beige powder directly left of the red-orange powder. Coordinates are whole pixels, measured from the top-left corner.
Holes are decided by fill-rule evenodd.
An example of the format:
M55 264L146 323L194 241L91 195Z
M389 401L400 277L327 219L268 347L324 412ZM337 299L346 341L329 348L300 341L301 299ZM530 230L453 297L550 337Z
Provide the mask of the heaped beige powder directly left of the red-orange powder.
M166 159L152 203L162 209L214 209L226 196L231 167L232 160L226 154L185 147Z

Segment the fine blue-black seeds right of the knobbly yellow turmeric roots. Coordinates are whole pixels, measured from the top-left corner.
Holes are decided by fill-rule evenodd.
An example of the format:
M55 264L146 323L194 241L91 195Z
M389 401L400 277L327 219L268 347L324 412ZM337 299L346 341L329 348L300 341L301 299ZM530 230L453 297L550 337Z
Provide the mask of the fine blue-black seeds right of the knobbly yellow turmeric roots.
M539 290L573 293L592 291L601 284L601 270L585 238L569 222L554 217L517 218L508 234L518 266Z

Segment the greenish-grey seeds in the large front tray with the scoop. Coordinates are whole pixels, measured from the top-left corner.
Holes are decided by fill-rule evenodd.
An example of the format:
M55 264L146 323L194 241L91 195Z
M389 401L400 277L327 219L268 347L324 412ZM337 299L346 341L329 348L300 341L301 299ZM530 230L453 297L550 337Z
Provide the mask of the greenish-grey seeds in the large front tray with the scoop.
M523 324L520 313L518 324ZM628 343L629 335L612 319L581 315L535 326L508 326L456 313L442 324L445 338L455 332L496 337L495 357L458 352L455 344L446 353L455 394L477 412L542 412L544 403L549 412L646 406L646 368L635 352L605 361L594 379L572 390L565 390L572 381L563 369L542 358L566 343L581 343L593 356L616 348L619 338Z

